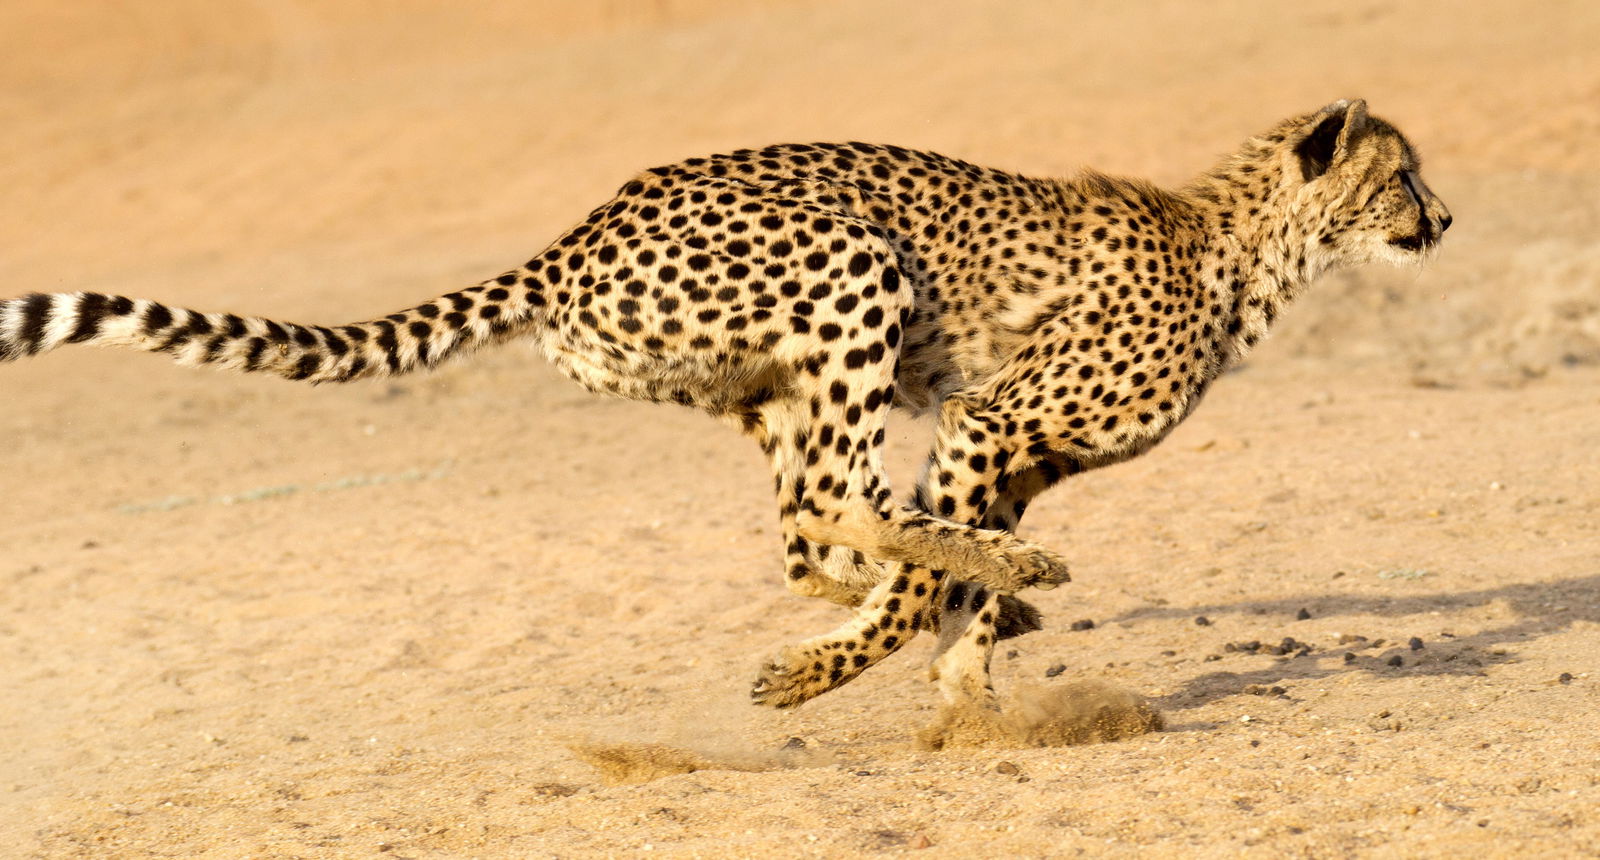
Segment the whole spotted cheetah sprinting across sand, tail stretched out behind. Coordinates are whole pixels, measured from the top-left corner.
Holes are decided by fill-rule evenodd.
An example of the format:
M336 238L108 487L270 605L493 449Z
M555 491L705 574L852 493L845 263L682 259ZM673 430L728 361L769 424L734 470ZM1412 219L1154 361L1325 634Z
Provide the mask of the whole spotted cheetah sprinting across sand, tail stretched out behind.
M1450 222L1360 99L1176 190L770 145L640 173L523 265L382 318L32 294L0 302L0 361L106 344L317 384L528 337L592 392L704 409L762 446L784 582L853 612L768 660L755 702L800 705L928 630L942 695L992 707L995 643L1042 623L1014 591L1069 580L1016 536L1029 502L1165 438L1323 272L1424 261ZM894 406L936 412L907 502L880 456Z

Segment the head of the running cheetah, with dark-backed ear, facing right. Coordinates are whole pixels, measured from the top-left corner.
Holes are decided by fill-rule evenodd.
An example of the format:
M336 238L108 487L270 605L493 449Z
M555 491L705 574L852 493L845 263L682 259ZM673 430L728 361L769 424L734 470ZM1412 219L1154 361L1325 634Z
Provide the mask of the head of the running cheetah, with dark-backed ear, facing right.
M1450 229L1450 209L1422 182L1411 142L1370 117L1362 99L1290 120L1285 177L1299 182L1314 253L1328 264L1418 264Z

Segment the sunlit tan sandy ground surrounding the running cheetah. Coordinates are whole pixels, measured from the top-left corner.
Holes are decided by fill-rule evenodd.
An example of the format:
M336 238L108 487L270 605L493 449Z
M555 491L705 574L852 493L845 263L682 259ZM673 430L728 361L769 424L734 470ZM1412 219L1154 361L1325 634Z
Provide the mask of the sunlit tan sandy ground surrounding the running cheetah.
M782 590L757 451L523 347L344 388L10 364L0 855L1600 854L1600 8L1117 6L0 5L5 294L338 323L691 153L1179 182L1341 96L1456 217L1430 270L1328 278L1166 444L1030 510L1075 582L998 683L1166 716L1091 747L918 751L926 638L747 705L842 619ZM909 488L926 427L893 435ZM574 742L712 767L608 785Z

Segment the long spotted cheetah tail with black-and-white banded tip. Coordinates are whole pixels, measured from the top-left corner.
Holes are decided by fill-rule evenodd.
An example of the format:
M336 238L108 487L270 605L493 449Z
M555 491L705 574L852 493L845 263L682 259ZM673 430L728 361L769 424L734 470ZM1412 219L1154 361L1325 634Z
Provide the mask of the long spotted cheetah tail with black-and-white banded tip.
M522 283L518 273L507 273L400 313L331 328L99 293L35 293L0 301L0 361L62 344L98 344L307 382L398 376L526 331L544 297Z

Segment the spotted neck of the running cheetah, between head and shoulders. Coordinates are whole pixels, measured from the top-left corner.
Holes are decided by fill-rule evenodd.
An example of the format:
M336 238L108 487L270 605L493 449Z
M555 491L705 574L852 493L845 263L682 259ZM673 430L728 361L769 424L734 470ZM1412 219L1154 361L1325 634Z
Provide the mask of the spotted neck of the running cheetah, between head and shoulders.
M1275 150L1243 152L1190 182L1198 280L1221 309L1222 369L1242 361L1283 307L1326 269L1285 182Z

